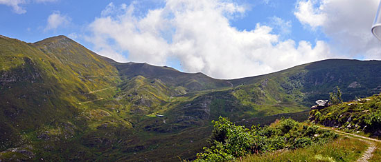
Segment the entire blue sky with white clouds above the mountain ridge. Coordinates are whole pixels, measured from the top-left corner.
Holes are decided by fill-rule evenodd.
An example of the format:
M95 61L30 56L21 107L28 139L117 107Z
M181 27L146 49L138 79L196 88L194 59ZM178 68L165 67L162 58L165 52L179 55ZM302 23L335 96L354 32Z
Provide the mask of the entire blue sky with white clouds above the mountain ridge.
M379 0L0 0L0 34L66 35L119 62L236 79L324 59L381 59Z

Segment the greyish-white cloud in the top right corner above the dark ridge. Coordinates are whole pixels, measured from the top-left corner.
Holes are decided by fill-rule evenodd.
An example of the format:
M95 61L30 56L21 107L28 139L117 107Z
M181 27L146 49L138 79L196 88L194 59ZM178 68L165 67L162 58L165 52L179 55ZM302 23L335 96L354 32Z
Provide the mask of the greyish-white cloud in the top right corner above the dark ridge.
M378 0L300 0L296 18L312 28L320 27L331 50L348 57L381 59L380 42L371 34Z

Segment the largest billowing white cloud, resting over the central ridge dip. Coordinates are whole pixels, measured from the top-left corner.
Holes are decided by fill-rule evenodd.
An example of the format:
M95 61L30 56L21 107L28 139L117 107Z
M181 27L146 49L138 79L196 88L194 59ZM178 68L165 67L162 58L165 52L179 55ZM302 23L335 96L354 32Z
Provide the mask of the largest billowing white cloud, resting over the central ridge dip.
M89 29L87 41L96 51L116 61L166 65L168 58L181 61L186 72L211 77L249 77L290 68L331 56L324 41L281 41L272 28L257 23L254 30L237 30L229 19L247 8L229 0L167 0L163 8L136 16L136 3L110 3ZM285 33L290 23L274 18Z

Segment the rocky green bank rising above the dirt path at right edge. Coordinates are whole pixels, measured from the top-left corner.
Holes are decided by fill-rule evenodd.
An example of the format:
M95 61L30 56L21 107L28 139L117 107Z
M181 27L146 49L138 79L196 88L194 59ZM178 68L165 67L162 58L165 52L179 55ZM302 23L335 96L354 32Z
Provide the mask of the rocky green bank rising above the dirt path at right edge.
M381 96L331 105L321 110L311 110L310 121L349 132L365 132L381 136Z

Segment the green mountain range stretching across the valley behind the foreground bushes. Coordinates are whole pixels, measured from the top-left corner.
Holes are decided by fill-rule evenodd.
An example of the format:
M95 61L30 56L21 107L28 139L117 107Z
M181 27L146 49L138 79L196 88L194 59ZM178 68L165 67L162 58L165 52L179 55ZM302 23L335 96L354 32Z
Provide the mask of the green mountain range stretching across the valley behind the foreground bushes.
M194 159L220 116L245 125L305 119L336 86L346 101L378 94L380 70L381 61L330 59L223 80L118 63L64 36L1 36L0 159Z

